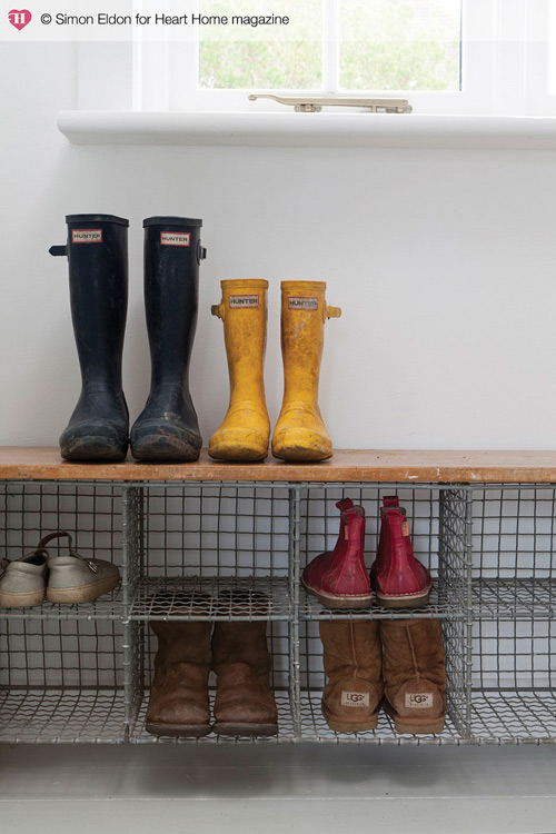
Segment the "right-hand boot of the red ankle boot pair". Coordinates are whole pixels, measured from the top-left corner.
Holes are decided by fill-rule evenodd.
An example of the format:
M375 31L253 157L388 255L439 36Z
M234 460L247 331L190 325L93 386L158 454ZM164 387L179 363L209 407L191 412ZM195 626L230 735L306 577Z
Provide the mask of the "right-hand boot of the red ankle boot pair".
M433 579L414 556L406 510L397 496L387 496L380 507L380 538L370 580L385 608L418 608L428 603Z

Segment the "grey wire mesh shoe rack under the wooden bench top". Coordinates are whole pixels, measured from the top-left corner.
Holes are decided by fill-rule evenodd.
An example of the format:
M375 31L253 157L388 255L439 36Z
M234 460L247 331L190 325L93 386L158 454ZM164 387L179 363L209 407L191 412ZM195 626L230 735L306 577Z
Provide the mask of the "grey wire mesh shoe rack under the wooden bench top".
M214 477L211 466L205 469ZM69 480L71 465L56 471L62 468L64 479L0 480L0 557L19 558L41 536L66 529L82 556L118 565L122 583L96 603L0 609L0 742L556 742L555 486L327 481L326 465L310 469L318 481L285 480L301 471L287 466L281 479L268 480L269 465L247 468L265 479L219 481L148 480L139 465L103 466L105 480L92 479L89 465L79 467L89 479ZM245 469L219 471L238 477ZM299 576L335 545L336 502L348 496L365 507L370 566L381 499L395 493L415 554L434 577L429 605L324 608ZM202 608L191 605L192 593L203 595ZM277 737L177 741L145 732L156 652L149 620L168 617L268 620ZM330 617L440 619L448 673L440 735L397 734L384 713L374 732L328 728L318 623Z

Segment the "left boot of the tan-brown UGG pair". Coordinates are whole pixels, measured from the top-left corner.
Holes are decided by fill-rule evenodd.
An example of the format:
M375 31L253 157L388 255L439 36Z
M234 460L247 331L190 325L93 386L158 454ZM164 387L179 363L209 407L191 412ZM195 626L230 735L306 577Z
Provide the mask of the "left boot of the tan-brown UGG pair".
M376 619L322 619L328 678L322 715L335 733L375 729L383 698L383 651Z

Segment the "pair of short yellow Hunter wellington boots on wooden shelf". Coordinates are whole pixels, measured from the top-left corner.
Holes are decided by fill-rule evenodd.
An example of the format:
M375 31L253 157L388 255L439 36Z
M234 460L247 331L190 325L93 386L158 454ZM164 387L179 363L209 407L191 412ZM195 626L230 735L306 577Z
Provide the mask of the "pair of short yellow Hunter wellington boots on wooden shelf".
M212 315L224 321L230 403L209 441L217 460L264 460L270 421L262 368L267 332L265 280L221 281L222 299ZM272 455L284 460L326 460L332 443L318 406L325 321L341 310L328 307L324 281L281 282L284 401L272 435Z

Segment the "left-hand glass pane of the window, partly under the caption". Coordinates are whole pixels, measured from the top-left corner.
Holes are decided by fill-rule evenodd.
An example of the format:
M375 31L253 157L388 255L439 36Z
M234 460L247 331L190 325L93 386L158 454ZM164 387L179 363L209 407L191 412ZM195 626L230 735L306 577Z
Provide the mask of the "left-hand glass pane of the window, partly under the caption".
M278 7L278 8L277 8ZM199 86L215 89L319 90L322 87L322 0L201 0L202 14L287 16L288 26L201 31Z

